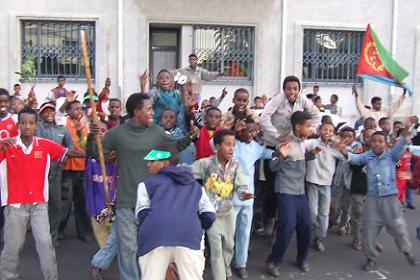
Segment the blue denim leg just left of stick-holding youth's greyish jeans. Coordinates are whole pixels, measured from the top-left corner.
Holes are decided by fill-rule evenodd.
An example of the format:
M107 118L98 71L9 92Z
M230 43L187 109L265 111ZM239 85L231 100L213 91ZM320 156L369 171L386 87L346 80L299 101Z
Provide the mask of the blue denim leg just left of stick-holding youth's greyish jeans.
M111 226L111 233L109 234L105 245L93 256L91 265L101 270L108 269L117 253L117 228L114 222Z

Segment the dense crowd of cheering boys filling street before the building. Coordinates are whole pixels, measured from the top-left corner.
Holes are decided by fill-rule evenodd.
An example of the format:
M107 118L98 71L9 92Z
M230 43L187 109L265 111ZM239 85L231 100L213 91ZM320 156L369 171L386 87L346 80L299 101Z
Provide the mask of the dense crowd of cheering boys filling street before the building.
M283 93L255 97L252 106L238 88L227 112L218 108L225 88L219 101L199 106L191 82L177 82L172 71L161 70L151 90L148 80L145 71L141 93L129 96L122 116L108 78L95 99L98 122L93 108L64 88L63 76L37 110L33 89L26 100L18 84L13 95L0 89L1 279L19 278L28 224L44 278L58 278L54 247L66 238L72 207L78 237L95 237L101 247L91 261L93 280L103 279L115 257L123 280L202 279L205 258L213 279L233 279L232 268L247 279L253 231L274 240L266 256L274 277L296 232L296 265L307 272L311 243L327 251L334 226L351 234L368 271L383 227L416 265L403 206L415 208L411 189L420 184L412 146L419 122L392 123L405 93L390 108L373 98L367 109L353 88L363 120L353 128L328 116L341 114L337 95L324 106L319 87L301 95L294 76L284 79ZM110 219L99 218L108 194L96 135Z

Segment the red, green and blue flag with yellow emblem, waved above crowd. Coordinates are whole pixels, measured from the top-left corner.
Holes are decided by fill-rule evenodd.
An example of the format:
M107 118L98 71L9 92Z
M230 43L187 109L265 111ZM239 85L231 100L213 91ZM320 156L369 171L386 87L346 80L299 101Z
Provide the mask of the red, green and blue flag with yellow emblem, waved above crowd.
M370 24L366 28L356 74L362 78L404 88L410 96L413 94L413 91L403 84L408 72L382 46Z

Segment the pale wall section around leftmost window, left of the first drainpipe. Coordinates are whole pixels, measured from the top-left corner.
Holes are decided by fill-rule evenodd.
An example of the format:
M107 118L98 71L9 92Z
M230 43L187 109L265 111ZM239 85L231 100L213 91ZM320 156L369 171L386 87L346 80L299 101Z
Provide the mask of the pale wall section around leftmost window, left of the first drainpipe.
M97 91L103 87L105 79L113 79L111 95L119 96L117 77L117 1L2 1L0 9L0 86L12 89L19 82L21 63L21 31L19 20L88 20L96 22L96 68L94 86ZM109 65L109 66L108 66ZM25 95L31 84L22 84ZM55 80L40 81L35 92L42 102L44 96L56 86ZM79 95L86 91L85 82L68 82L67 89L77 90Z

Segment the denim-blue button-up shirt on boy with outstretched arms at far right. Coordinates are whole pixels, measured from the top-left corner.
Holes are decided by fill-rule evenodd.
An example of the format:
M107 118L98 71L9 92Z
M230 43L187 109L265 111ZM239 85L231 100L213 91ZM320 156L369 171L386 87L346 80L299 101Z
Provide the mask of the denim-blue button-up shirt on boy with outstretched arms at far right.
M401 137L391 150L385 150L379 156L372 150L362 154L349 153L350 164L366 165L368 196L381 197L398 193L395 184L395 164L402 157L406 144L407 139Z

